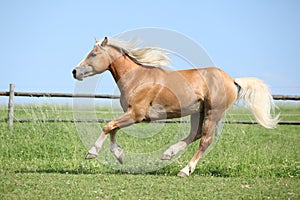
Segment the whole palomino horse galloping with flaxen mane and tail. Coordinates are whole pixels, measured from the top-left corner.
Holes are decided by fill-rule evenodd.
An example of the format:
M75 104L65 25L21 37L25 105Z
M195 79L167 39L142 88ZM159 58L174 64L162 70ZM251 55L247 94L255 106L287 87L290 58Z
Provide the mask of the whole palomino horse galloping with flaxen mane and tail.
M118 129L142 121L191 115L190 134L168 148L162 160L169 160L190 143L201 138L199 148L178 176L189 176L212 143L217 123L232 104L243 99L255 119L273 128L278 117L270 114L274 106L266 84L257 78L229 77L218 68L165 70L167 52L155 47L137 48L133 42L96 39L93 50L76 66L73 76L83 80L109 70L121 92L124 114L107 123L87 159L95 158L110 134L111 152L120 163L124 151L116 142Z

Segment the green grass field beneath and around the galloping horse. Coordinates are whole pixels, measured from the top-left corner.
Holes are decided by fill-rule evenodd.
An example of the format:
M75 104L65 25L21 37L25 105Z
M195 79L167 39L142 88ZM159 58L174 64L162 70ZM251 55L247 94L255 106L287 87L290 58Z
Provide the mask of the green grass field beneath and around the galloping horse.
M72 118L70 110L61 105L18 105L15 117ZM106 111L97 108L97 116L110 118ZM281 105L280 112L282 120L300 121L299 104ZM227 119L251 119L245 113L233 109ZM2 105L0 118L6 117ZM147 129L147 124L138 126ZM120 131L118 143L125 151L151 151L164 145L174 129L176 124L166 124L151 138ZM7 122L0 122L0 199L299 199L299 134L296 125L268 130L225 124L218 144L183 179L176 174L198 142L162 169L132 174L97 159L85 160L87 150L74 123L16 122L10 133Z

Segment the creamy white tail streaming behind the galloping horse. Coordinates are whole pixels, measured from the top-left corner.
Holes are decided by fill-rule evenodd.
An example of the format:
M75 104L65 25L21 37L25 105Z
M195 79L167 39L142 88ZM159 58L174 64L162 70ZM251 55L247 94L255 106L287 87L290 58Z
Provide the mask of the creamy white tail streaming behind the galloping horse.
M238 99L243 99L256 121L265 128L274 128L279 122L279 114L272 117L275 104L268 86L257 78L237 78L234 80L241 89Z

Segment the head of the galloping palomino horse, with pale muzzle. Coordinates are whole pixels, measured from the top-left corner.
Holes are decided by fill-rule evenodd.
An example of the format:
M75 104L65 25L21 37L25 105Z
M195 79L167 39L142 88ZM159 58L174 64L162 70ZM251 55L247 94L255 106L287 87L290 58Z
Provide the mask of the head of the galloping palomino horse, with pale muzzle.
M93 50L72 71L73 77L77 80L81 81L88 76L104 72L112 62L112 58L105 48L108 42L107 37L102 42L97 38L95 40L96 44Z

